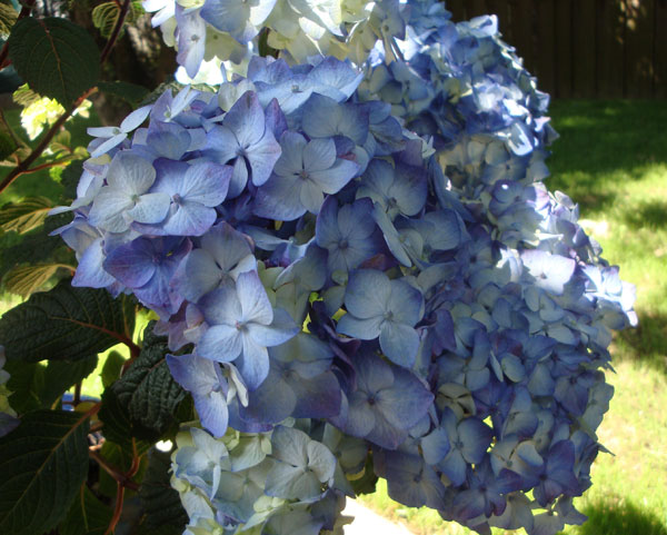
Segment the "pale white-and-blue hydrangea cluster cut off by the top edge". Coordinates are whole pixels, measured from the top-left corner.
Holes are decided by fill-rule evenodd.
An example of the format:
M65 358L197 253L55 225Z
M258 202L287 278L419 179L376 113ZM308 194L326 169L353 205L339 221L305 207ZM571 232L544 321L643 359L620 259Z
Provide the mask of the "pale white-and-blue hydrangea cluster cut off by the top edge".
M329 55L360 65L378 40L394 57L408 12L398 0L145 0L143 8L191 78L202 63L242 63L262 28L263 42L290 62Z

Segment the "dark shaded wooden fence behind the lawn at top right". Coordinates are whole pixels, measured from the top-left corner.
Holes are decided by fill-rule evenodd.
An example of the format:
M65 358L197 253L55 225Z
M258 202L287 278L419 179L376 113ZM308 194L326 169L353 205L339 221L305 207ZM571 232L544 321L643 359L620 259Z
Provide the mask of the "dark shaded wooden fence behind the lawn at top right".
M447 0L455 21L498 16L557 98L667 98L667 0Z

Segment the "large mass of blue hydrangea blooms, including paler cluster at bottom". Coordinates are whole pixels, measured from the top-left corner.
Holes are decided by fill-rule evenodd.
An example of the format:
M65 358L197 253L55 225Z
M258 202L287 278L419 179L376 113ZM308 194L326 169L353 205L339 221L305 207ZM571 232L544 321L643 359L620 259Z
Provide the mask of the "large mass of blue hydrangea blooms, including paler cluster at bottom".
M548 99L495 18L410 7L364 80L255 57L93 132L60 234L74 285L160 315L206 429L175 455L190 533L335 529L368 452L479 533L583 522L634 288L541 182Z

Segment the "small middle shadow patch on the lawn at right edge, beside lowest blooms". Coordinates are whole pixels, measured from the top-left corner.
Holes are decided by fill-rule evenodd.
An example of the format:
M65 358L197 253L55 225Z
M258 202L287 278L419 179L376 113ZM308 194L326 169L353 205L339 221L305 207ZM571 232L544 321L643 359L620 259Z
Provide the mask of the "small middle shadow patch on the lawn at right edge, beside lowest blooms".
M639 325L617 333L615 344L615 358L640 361L667 375L667 315L639 314Z

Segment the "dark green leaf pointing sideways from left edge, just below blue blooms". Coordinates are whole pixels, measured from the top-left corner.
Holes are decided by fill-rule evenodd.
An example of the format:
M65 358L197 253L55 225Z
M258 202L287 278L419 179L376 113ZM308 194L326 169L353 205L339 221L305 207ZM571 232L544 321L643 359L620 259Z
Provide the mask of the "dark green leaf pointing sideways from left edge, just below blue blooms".
M129 341L133 327L131 298L113 299L107 290L62 280L4 313L0 340L8 359L79 360Z

